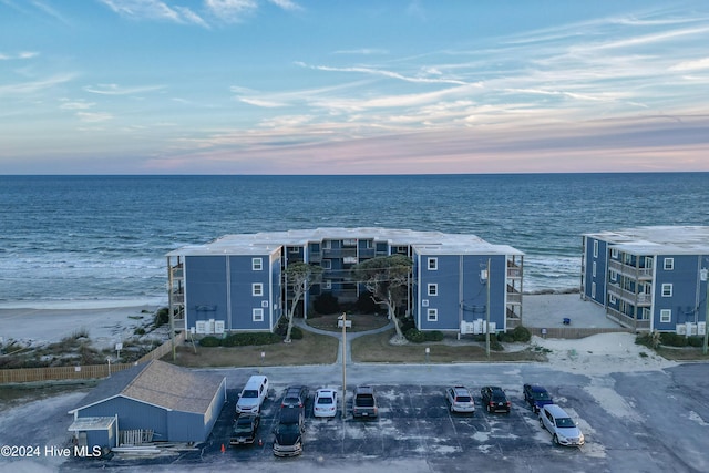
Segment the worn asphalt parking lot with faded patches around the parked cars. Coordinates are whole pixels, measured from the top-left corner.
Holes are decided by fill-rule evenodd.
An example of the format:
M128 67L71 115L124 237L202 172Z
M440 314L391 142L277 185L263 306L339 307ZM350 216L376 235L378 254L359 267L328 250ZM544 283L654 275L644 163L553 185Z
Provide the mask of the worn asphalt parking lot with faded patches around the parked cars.
M506 472L709 471L709 367L682 364L666 370L592 374L565 372L540 363L441 366L356 364L348 368L348 415L312 417L312 394L320 387L341 387L337 366L268 368L269 397L263 409L258 441L229 446L237 393L254 370L213 370L227 377L228 402L208 442L198 451L169 460L110 461L114 471L222 471L238 466L271 472L377 471L451 472L483 469ZM320 383L314 382L320 380ZM522 385L545 385L586 436L582 448L555 446L535 414L524 404ZM351 390L376 387L378 419L351 418ZM449 385L464 383L475 394L474 415L451 414ZM310 388L304 453L277 459L271 429L280 399L290 384ZM485 412L480 388L497 384L512 401L510 414ZM222 445L225 445L222 452ZM64 470L85 470L71 462Z

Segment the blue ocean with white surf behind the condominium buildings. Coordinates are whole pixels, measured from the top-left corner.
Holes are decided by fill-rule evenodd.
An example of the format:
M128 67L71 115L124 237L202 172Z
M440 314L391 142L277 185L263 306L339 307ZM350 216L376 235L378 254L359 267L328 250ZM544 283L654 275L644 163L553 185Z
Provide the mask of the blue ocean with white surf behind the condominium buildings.
M0 176L0 215L4 308L166 304L166 253L317 227L474 234L526 254L525 291L567 291L583 233L709 225L709 173Z

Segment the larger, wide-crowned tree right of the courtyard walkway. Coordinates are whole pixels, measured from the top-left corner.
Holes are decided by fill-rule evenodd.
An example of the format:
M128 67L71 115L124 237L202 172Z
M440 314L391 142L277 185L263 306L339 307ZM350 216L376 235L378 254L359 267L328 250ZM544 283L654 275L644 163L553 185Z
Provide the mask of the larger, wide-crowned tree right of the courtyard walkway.
M394 322L397 337L403 339L403 332L397 318L397 306L405 298L413 261L403 255L380 256L368 259L352 268L352 275L371 292L376 304L387 307L389 319Z

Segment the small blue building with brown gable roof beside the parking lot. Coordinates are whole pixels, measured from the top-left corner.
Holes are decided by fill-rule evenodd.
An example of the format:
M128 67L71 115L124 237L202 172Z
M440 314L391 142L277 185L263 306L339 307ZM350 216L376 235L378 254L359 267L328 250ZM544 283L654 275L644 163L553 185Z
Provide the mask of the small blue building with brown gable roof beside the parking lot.
M207 440L226 402L226 378L160 360L102 381L71 411L80 445L114 448L146 442Z

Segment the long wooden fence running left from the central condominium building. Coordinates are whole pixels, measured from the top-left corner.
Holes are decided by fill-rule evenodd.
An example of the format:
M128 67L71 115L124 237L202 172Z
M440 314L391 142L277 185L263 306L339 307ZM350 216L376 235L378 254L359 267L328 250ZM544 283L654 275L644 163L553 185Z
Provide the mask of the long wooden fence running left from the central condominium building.
M185 332L175 336L175 345L185 341ZM144 354L133 363L105 363L105 364L85 364L79 367L52 367L52 368L19 368L10 370L0 370L0 384L22 383L22 382L42 382L42 381L65 381L82 379L102 379L107 378L111 373L127 370L146 361L163 358L172 351L172 341L166 341L155 348L150 353Z

